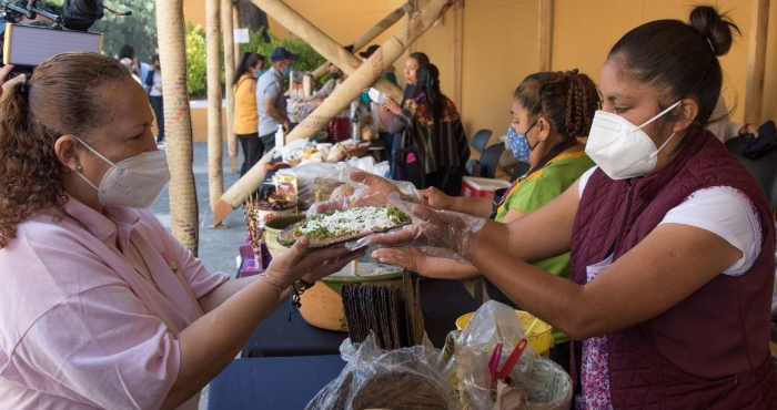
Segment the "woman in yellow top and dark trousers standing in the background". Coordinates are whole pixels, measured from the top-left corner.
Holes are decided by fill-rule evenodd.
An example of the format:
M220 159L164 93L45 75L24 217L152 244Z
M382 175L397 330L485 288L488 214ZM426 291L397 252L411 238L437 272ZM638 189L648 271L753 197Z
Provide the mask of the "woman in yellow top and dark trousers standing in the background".
M256 111L256 73L264 66L264 57L243 53L234 74L234 122L232 132L243 148L243 165L240 176L256 165L264 154L264 144L259 137L259 112Z

